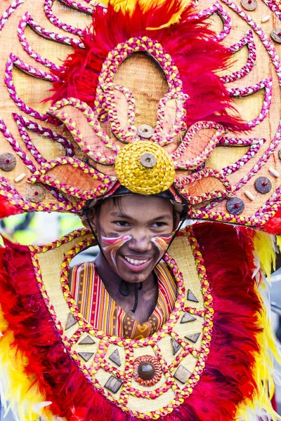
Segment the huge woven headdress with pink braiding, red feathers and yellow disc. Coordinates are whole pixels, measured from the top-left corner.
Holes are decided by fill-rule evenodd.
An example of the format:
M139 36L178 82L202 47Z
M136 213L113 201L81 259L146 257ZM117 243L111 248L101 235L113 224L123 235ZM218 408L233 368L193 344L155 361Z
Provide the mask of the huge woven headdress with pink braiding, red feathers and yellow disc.
M13 52L3 46L1 215L77 213L121 183L140 194L171 189L188 201L188 218L278 232L277 6L268 4L271 13L244 1L270 40L229 1L206 9L179 0L77 6L93 14L86 32L55 18L52 4L44 11L58 33L27 12ZM30 29L52 57L32 48ZM64 63L53 62L53 41L74 48ZM45 81L55 91L49 109L40 102L50 95Z

